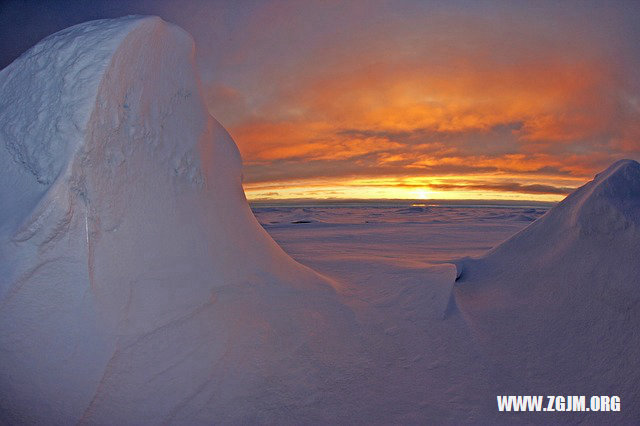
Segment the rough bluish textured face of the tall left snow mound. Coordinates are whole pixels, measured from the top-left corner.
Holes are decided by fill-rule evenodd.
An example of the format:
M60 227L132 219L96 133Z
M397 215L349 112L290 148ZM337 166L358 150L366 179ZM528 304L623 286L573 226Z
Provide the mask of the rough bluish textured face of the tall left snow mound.
M0 132L13 160L51 184L82 141L100 81L114 51L140 18L94 21L53 34L0 73ZM22 91L30 88L25 96ZM35 116L34 116L35 111ZM53 112L53 113L52 113ZM24 138L25 134L31 137Z

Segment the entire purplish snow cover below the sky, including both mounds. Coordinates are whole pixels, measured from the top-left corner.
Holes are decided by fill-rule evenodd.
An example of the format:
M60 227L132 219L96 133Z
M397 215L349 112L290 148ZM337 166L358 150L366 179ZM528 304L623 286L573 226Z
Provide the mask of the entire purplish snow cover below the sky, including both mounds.
M640 417L638 163L524 230L542 210L258 209L320 275L252 214L193 56L126 17L0 72L0 423ZM518 393L622 411L497 413Z

